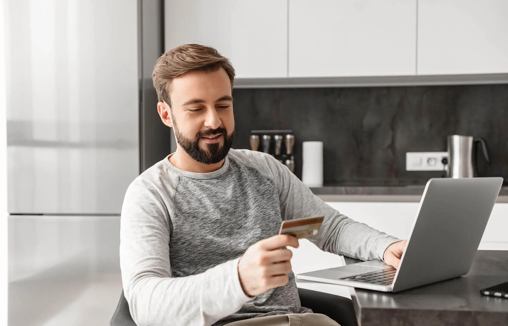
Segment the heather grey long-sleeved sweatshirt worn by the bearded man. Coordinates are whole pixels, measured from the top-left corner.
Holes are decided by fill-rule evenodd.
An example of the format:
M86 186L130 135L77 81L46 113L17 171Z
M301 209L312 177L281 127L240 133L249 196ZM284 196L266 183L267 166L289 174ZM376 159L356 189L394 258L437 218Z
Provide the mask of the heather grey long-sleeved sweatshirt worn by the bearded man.
M355 222L312 194L272 156L230 150L220 169L188 172L168 157L129 186L121 211L120 267L139 326L224 325L285 313L300 305L295 275L255 298L245 295L238 260L277 235L283 220L325 216L311 238L322 250L382 259L397 238Z

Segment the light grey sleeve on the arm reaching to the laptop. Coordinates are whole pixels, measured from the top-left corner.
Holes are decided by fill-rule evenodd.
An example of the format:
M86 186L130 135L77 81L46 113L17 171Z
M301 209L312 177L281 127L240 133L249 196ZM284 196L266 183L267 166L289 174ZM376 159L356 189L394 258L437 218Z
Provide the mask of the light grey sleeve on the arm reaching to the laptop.
M282 164L274 163L272 171L279 189L283 220L325 216L320 235L309 238L321 250L361 260L382 260L385 249L400 241L339 213L312 194L310 189Z

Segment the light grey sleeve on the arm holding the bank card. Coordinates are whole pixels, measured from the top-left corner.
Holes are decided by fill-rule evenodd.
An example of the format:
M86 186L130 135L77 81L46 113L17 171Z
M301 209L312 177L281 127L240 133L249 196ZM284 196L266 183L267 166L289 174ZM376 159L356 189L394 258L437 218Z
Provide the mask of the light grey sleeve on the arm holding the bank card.
M240 285L238 260L203 273L171 277L171 219L160 194L136 181L120 222L120 268L125 298L139 326L211 325L251 300Z

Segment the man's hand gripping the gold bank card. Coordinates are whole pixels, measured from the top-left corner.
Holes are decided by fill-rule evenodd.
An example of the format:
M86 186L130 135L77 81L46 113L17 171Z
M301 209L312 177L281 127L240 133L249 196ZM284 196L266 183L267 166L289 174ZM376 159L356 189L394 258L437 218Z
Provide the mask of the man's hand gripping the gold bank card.
M287 284L289 278L286 274L291 272L290 259L293 252L280 248L298 248L298 245L296 237L279 234L248 247L238 261L238 276L243 292L249 297L255 297L271 288Z

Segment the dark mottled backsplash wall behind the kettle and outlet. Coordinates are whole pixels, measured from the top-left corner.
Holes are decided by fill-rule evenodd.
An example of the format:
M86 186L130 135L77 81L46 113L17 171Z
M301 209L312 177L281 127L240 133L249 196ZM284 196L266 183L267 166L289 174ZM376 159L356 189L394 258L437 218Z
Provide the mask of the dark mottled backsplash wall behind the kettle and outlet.
M442 172L406 171L406 152L446 152L451 134L486 139L479 176L508 178L508 85L234 89L233 148L253 129L292 129L324 143L325 184L424 184Z

